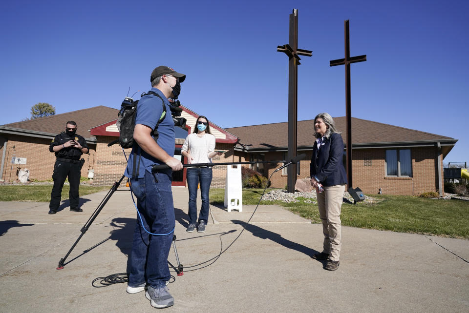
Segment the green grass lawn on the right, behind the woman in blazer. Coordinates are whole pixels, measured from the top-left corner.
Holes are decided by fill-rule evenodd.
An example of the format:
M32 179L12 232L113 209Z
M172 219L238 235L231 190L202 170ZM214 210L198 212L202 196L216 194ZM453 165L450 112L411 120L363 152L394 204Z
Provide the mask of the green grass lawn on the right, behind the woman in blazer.
M269 190L266 191L266 193ZM256 205L262 189L243 189L243 204ZM374 195L379 203L342 204L342 225L393 232L440 235L469 239L469 201L426 199L415 196ZM211 189L212 203L224 200L223 189ZM305 202L276 203L313 223L320 223L318 205Z

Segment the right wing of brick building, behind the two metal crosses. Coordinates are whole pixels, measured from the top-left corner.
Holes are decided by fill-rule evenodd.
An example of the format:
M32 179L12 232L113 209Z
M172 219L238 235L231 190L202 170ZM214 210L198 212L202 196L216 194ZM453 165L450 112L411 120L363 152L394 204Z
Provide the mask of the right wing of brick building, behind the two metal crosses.
M337 129L346 138L345 117L334 117ZM443 193L443 159L457 139L404 127L352 117L353 184L366 194L418 195ZM286 159L288 123L227 128L240 138L235 156L240 160ZM298 121L298 154L306 158L297 166L298 178L309 177L314 138L314 120ZM344 140L345 141L345 140ZM343 164L345 167L345 150ZM278 164L280 165L280 164ZM269 177L277 166L258 170ZM287 185L286 170L271 179L272 187Z

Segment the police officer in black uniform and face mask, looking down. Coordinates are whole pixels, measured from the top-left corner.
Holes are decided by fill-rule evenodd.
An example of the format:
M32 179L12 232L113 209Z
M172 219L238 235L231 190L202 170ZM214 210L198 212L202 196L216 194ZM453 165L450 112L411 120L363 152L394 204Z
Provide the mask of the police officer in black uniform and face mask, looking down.
M54 152L57 160L54 164L54 187L50 193L49 214L56 214L59 209L62 196L62 187L64 187L65 178L68 176L70 182L70 211L83 212L79 205L78 187L80 186L81 164L80 156L88 153L84 137L75 134L77 123L68 121L65 126L65 132L60 133L52 140L49 151Z

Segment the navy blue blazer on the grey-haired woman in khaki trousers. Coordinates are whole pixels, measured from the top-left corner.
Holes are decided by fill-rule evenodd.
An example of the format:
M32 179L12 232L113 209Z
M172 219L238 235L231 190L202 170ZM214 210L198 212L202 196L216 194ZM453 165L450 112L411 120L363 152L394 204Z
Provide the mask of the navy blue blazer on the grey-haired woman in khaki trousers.
M340 134L333 133L324 138L318 151L316 141L309 165L311 177L318 177L322 186L336 186L347 183L347 174L342 165L343 140Z

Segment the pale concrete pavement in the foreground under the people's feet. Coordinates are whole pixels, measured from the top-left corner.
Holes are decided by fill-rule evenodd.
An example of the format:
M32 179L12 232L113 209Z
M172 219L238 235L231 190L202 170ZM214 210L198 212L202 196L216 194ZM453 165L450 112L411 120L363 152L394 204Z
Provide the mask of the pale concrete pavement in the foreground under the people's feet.
M83 213L68 211L67 200L56 215L48 203L0 202L0 312L157 310L125 283L91 285L126 272L136 216L127 191L114 193L56 270L106 194L83 196ZM165 312L469 311L468 240L343 227L341 265L329 272L311 258L322 247L320 224L260 206L229 247L255 206L212 206L207 231L189 234L187 189L173 187L173 197L185 271L172 273L175 304ZM173 249L169 261L176 264Z

